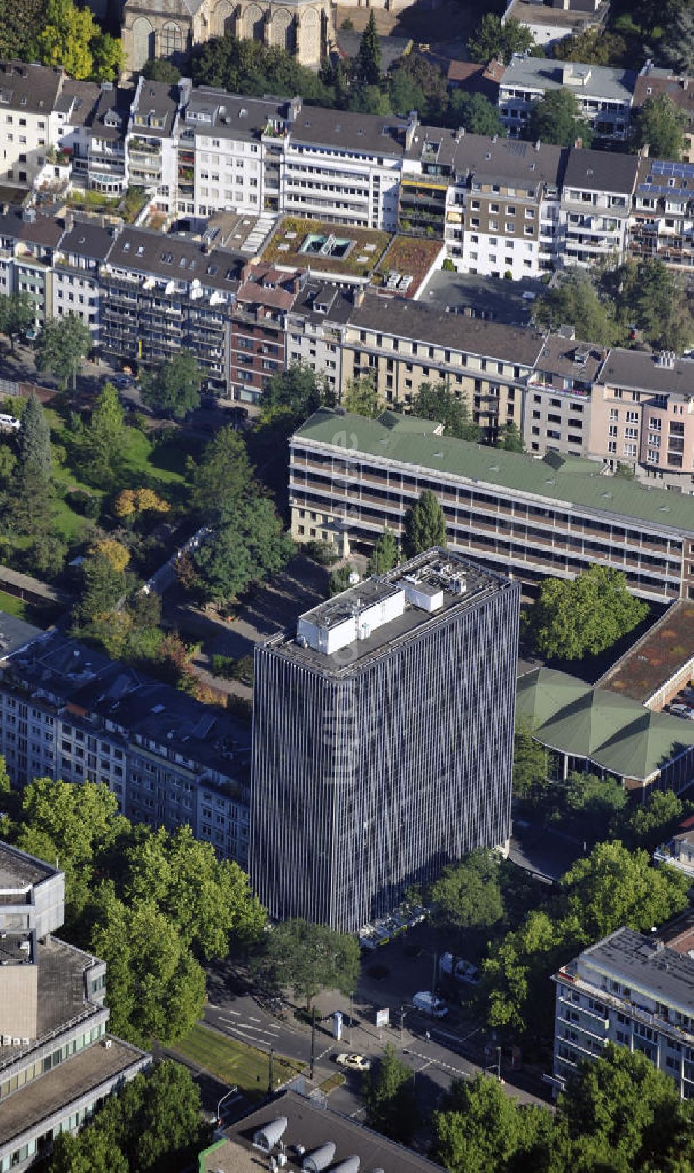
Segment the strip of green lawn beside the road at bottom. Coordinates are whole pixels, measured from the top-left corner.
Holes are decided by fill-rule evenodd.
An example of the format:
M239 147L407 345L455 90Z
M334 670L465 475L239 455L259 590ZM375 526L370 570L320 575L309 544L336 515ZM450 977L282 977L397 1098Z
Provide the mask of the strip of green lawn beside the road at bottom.
M268 1056L245 1043L238 1043L218 1031L199 1024L190 1035L172 1047L175 1052L192 1059L198 1066L210 1071L225 1084L237 1084L246 1096L265 1096L268 1079ZM274 1056L273 1079L279 1086L291 1079L301 1065L293 1059Z

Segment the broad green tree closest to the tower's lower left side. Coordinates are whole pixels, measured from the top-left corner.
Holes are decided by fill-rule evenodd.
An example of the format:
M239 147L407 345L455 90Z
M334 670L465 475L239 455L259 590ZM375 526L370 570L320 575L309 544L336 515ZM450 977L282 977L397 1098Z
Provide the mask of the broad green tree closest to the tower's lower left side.
M211 843L189 826L172 835L161 827L140 834L128 850L128 904L152 900L181 940L205 960L226 957L230 941L251 944L265 927L265 909L238 863L218 860Z

